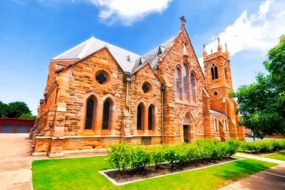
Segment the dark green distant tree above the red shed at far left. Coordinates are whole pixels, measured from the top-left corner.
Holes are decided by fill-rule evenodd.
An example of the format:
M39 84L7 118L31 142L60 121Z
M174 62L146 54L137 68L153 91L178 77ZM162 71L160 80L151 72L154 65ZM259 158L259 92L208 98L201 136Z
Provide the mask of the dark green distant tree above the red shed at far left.
M25 102L10 102L5 104L0 101L0 117L35 119L36 116L31 114L31 110Z

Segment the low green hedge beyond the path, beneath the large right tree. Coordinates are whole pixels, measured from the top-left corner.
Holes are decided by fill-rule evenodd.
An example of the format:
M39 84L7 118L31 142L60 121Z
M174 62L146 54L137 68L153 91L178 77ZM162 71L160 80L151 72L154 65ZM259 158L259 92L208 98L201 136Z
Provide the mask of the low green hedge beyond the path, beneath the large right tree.
M266 139L255 142L240 142L239 151L242 152L275 152L285 149L285 139Z

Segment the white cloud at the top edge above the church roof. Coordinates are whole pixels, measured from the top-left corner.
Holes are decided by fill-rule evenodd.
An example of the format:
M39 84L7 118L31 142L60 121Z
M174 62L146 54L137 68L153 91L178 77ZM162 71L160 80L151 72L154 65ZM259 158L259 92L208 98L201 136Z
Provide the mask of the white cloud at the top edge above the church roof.
M148 14L161 13L172 0L88 0L99 9L99 17L108 23L130 25Z

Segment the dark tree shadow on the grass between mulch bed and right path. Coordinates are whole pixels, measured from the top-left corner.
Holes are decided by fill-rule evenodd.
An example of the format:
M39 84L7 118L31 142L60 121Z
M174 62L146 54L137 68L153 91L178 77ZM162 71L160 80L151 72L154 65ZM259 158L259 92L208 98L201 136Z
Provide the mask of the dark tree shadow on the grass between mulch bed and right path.
M269 169L274 165L264 164L264 162L252 162L249 160L241 160L234 162L230 167L226 167L216 174L215 176L222 177L223 179L237 181L238 179L250 176L259 171Z

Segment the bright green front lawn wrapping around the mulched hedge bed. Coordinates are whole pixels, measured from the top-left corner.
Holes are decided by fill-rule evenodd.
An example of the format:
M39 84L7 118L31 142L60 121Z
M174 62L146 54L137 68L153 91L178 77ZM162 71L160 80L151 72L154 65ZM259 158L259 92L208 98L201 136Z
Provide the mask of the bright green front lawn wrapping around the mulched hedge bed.
M106 157L37 160L32 163L33 189L218 189L232 181L274 167L252 159L207 169L114 186L99 170L110 169Z

